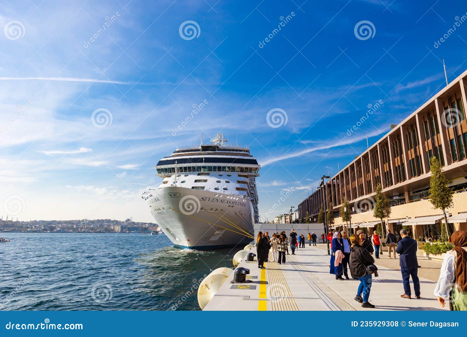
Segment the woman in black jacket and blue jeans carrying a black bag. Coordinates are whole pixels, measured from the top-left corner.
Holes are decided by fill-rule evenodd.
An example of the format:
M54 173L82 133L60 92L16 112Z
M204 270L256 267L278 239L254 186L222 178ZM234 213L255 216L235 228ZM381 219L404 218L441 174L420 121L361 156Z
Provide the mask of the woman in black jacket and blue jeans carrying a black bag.
M360 284L357 289L357 296L354 300L361 303L363 308L375 308L375 305L369 303L372 276L367 274L366 267L375 263L375 260L370 255L367 249L360 245L360 240L356 234L350 237L350 263L349 269L352 277L358 278Z

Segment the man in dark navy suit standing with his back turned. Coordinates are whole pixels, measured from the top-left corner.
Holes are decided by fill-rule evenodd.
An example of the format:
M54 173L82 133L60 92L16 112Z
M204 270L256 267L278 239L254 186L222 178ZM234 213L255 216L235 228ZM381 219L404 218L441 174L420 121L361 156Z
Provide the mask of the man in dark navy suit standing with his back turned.
M402 239L397 243L396 253L400 254L399 265L401 266L402 281L404 283L404 294L402 298L410 298L410 276L412 276L415 297L420 298L420 281L418 280L417 241L409 237L407 229L401 229Z

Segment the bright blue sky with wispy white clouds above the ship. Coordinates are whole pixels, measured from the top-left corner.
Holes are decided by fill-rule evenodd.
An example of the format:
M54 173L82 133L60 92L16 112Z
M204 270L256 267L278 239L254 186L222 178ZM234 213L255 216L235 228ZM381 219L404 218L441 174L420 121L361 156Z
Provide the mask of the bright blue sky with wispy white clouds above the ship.
M260 214L293 187L272 215L287 212L367 134L371 145L442 89L443 58L450 81L467 69L466 12L434 0L3 1L3 217L151 221L141 193L159 185L158 159L219 131L262 164ZM287 123L271 127L270 110Z

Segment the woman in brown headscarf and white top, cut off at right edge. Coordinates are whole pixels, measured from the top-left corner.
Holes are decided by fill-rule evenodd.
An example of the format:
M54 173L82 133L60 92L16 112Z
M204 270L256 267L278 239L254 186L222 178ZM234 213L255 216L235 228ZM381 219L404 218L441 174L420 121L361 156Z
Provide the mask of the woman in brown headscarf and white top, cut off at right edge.
M446 253L441 266L434 295L444 308L449 302L450 310L467 310L467 232L456 231L451 235L454 248Z

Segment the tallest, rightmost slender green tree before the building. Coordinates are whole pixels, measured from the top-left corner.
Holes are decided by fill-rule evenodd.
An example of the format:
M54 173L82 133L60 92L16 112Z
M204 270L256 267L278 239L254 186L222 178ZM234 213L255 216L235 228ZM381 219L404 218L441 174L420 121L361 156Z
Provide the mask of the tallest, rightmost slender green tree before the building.
M443 170L441 169L441 165L439 164L439 161L436 157L430 158L430 166L432 170L432 176L430 177L430 202L432 203L433 208L443 211L444 224L441 224L441 233L443 232L443 227L445 227L445 241L447 241L447 239L449 239L451 236L451 233L449 231L449 226L446 226L446 208L453 206L453 194L451 193L448 180L444 175ZM443 235L441 235L441 240L443 241L442 236Z

